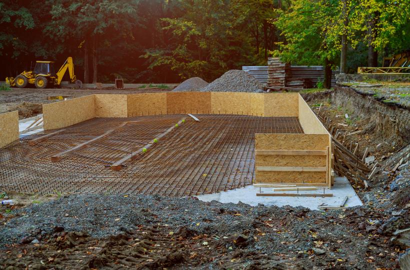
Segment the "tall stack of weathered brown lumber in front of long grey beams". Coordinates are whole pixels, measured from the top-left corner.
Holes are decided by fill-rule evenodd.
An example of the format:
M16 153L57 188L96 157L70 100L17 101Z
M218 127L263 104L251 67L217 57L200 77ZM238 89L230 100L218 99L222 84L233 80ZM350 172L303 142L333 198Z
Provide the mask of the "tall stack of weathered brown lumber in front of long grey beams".
M281 62L278 57L268 58L267 87L286 86L286 79L290 76L290 64Z

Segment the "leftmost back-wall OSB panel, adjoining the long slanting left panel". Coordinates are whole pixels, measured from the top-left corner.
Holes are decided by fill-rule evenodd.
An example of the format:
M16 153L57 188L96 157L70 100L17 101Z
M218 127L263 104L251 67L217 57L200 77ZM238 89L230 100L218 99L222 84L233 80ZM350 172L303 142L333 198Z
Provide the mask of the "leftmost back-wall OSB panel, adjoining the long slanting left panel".
M95 94L97 117L127 117L126 94Z

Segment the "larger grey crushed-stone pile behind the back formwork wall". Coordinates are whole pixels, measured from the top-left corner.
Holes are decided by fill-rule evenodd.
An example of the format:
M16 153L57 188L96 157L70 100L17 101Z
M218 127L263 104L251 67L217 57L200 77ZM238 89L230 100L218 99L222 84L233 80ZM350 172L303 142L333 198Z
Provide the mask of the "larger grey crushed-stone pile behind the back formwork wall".
M263 92L263 84L246 71L231 69L201 89L202 92Z

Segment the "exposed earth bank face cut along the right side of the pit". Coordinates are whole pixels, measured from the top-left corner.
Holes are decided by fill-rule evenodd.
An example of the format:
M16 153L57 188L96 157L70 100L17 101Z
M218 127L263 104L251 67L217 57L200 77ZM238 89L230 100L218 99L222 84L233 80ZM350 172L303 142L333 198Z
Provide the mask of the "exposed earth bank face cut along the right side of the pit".
M302 95L306 102L330 98L331 103L367 120L364 131L395 142L398 146L410 142L410 110L397 104L386 104L371 95L359 93L351 87L336 86L333 91Z

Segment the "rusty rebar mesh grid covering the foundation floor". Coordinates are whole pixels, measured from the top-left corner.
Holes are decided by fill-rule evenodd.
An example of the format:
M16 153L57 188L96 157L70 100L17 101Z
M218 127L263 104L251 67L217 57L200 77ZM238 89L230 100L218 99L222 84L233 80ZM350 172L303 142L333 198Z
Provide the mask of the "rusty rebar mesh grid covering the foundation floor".
M297 117L199 115L187 117L123 163L186 115L94 118L55 132L47 130L0 149L0 188L20 192L145 193L190 196L243 187L254 178L255 133L303 133ZM112 132L92 140L107 130ZM51 156L67 152L59 161Z

